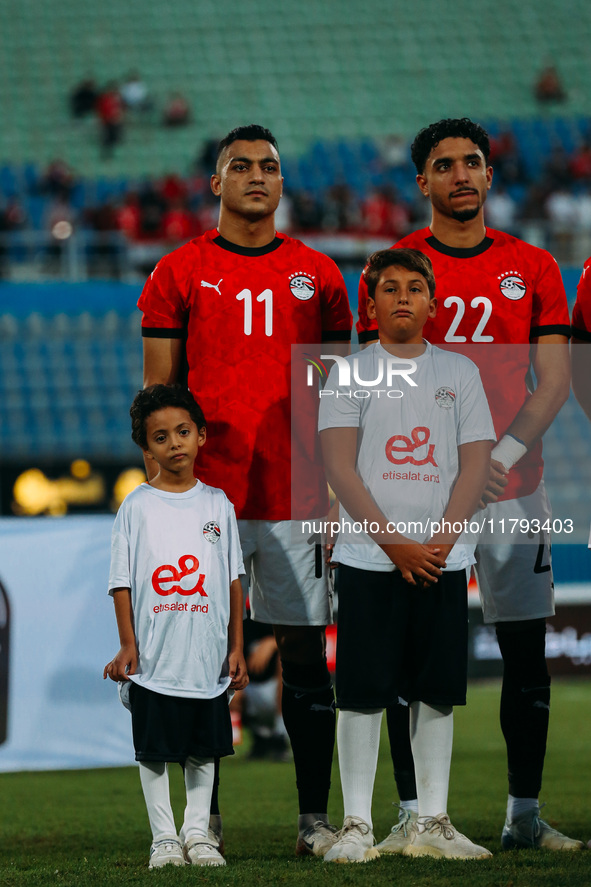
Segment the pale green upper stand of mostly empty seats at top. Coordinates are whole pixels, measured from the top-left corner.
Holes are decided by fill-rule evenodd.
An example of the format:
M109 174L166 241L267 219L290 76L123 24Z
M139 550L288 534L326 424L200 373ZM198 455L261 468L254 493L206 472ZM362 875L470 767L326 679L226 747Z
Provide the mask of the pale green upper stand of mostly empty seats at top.
M271 126L293 157L319 138L408 137L444 115L530 119L547 58L568 95L559 113L577 117L589 75L586 51L573 48L587 47L590 31L585 0L570 0L568 15L557 0L458 0L445 15L436 0L395 11L386 0L64 0L34 14L15 4L0 35L0 157L64 157L93 176L137 177L187 170L206 138L245 117ZM133 121L103 161L95 121L72 120L68 96L89 73L104 85L132 68L157 108L181 91L192 122L171 132L158 114Z

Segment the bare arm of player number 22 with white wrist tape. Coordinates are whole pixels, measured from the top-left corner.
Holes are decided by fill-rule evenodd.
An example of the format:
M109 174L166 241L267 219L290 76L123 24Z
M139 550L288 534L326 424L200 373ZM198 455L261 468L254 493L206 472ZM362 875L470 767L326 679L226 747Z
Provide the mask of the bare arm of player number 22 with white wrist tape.
M554 333L534 339L531 362L536 374L536 389L493 448L483 504L498 500L513 465L542 437L568 400L570 360L567 337Z

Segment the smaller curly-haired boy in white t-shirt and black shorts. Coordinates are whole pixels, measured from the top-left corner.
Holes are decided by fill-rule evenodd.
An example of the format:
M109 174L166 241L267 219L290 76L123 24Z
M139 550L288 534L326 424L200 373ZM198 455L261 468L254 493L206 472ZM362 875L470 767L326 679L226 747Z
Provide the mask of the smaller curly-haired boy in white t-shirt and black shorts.
M103 677L124 682L131 710L153 837L149 867L225 865L208 838L214 759L233 754L227 691L248 683L234 507L193 476L206 431L188 391L152 385L130 414L133 440L159 472L125 498L113 526L109 594L121 648ZM185 774L180 836L169 762Z

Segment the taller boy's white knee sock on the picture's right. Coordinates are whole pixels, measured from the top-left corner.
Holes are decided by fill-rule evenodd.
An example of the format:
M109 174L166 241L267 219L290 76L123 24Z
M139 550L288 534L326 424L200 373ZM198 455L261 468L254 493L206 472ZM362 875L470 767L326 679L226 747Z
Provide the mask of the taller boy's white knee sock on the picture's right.
M447 812L453 743L453 707L413 702L410 744L415 761L419 816Z

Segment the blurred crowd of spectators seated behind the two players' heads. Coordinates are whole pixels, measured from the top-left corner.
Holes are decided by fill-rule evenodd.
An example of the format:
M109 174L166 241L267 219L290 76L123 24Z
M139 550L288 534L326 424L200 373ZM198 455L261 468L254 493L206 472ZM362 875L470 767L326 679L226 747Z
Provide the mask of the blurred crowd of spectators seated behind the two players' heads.
M130 75L127 85L135 94L136 108L148 107L148 94L141 88L131 90L134 83L137 87L141 81ZM125 101L133 106L129 95ZM85 107L89 106L90 96ZM96 102L92 107L97 107ZM428 202L414 186L408 146L401 146L400 140L392 142L398 145L397 150L386 143L380 147L371 170L375 184L365 190L338 179L316 190L294 189L288 175L277 214L278 230L296 235L379 237L393 243L412 228L428 224ZM571 153L557 143L535 170L511 131L499 132L491 140L491 148L494 182L485 206L487 224L547 246L559 261L576 263L579 251L588 255L591 130ZM44 198L41 227L58 240L77 230L119 232L130 244L158 242L172 249L217 223L218 204L209 187L215 149L213 141L203 144L186 175L171 172L139 182L125 181L116 193L99 199L89 196L92 192L88 188L80 198L83 182L61 159L51 162L28 188ZM306 177L300 180L305 182ZM404 185L398 187L396 182ZM18 196L6 198L0 208L0 232L28 225L39 228L39 220L36 222L27 216L27 201Z

